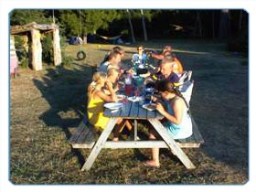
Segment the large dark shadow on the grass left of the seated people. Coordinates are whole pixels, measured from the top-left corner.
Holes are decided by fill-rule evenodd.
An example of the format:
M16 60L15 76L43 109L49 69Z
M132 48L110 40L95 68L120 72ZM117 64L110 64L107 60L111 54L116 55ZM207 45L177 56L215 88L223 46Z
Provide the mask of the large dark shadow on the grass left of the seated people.
M76 127L85 112L86 90L93 69L80 65L80 69L60 67L58 70L47 70L48 73L42 80L33 80L50 105L50 109L43 112L39 119L50 127L62 128L69 138L67 128Z

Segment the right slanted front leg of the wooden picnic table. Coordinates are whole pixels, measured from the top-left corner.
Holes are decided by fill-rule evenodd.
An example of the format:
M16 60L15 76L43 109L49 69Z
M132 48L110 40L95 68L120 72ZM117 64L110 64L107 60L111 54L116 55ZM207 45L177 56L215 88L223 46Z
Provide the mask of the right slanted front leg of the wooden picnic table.
M196 168L195 165L189 160L187 155L182 151L182 149L176 144L176 141L172 136L165 131L165 127L156 119L148 119L148 121L154 126L157 133L163 138L165 143L169 146L171 150L177 155L179 160L187 167L187 169Z

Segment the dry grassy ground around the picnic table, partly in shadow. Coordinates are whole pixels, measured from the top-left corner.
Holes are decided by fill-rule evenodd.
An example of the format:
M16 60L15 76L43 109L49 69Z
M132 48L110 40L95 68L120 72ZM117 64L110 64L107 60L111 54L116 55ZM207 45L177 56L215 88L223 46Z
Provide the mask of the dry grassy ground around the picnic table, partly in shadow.
M165 42L166 44L167 42ZM164 43L144 44L162 48ZM143 165L149 150L103 149L89 172L80 172L89 150L68 139L85 112L93 68L112 45L88 44L87 59L71 68L19 69L10 80L10 179L14 184L243 184L248 181L248 62L222 44L171 42L185 69L193 70L191 111L205 144L184 149L197 166L187 170L166 150L161 167ZM136 46L123 46L125 62ZM78 47L69 46L75 57ZM243 65L241 65L243 63ZM142 125L141 125L142 126ZM143 128L143 127L141 127Z

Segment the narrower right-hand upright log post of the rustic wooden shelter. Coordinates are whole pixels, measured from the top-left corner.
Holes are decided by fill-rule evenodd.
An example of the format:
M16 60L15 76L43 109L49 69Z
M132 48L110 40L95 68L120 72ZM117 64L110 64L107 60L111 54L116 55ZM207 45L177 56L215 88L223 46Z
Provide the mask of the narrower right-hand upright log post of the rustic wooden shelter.
M55 26L53 29L53 60L54 65L58 66L61 64L61 50L60 50L60 37L59 37L59 28Z

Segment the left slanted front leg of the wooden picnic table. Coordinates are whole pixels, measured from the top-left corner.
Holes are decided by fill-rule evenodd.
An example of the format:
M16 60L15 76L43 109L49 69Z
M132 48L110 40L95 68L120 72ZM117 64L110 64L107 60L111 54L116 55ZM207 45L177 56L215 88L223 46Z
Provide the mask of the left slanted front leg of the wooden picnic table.
M90 155L88 156L85 164L82 166L81 171L90 170L91 165L95 161L96 157L100 154L101 148L104 146L106 143L110 133L112 133L112 129L114 125L117 123L118 118L111 118L109 123L107 124L106 128L104 131L101 133L101 136L99 137L98 141L96 144L94 144Z

